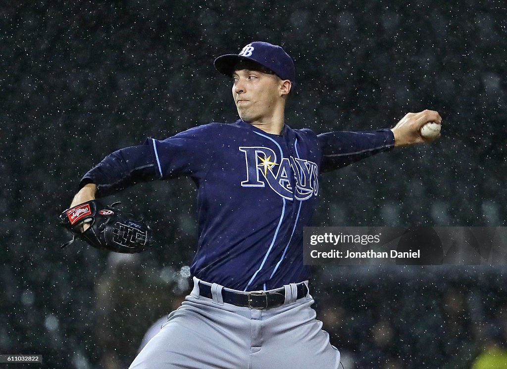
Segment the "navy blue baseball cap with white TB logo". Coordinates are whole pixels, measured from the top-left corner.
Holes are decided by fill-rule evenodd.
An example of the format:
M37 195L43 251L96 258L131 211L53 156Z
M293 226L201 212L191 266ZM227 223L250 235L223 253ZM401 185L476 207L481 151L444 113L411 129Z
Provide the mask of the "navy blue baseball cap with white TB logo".
M283 49L276 45L260 41L246 45L239 54L219 56L214 61L216 70L232 77L234 66L242 60L249 60L273 71L281 79L296 83L294 61Z

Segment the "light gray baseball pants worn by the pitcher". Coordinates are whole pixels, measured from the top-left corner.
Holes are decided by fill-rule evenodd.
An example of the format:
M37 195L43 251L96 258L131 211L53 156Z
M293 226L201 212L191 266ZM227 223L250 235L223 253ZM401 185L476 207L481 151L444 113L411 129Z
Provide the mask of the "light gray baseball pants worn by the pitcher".
M223 286L211 285L212 299L199 296L199 279L130 365L130 369L337 369L340 352L310 308L312 297L296 301L296 285L285 285L285 303L250 309L223 303Z

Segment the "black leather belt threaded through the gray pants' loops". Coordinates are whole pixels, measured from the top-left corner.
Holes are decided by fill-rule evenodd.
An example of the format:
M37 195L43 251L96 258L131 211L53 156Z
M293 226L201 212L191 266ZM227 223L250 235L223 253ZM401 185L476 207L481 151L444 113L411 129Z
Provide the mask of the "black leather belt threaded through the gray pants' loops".
M301 299L308 294L308 288L305 283L298 283L298 296ZM212 299L211 286L199 281L199 295ZM222 299L227 304L233 304L241 307L249 307L250 309L269 309L283 305L285 302L285 289L272 291L257 291L248 293L238 293L222 290Z

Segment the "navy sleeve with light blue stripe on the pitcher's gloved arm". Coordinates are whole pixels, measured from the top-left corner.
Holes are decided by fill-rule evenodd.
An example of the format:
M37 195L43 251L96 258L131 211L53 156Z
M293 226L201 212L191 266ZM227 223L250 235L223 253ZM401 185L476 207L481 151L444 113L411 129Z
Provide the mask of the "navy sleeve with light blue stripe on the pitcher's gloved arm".
M80 187L97 186L97 197L107 196L139 182L190 176L198 182L209 160L209 130L187 130L163 141L148 138L142 145L107 155L85 174Z

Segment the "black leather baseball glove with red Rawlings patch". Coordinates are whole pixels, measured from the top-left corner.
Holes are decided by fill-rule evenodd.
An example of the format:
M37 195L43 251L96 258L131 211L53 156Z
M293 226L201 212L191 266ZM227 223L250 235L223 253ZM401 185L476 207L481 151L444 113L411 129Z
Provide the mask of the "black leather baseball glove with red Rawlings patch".
M61 247L68 246L78 236L94 248L117 253L135 254L149 249L153 243L150 227L114 208L118 203L103 206L91 200L65 210L60 214L60 224L74 236ZM90 227L82 232L84 223L89 223Z

